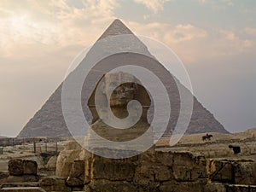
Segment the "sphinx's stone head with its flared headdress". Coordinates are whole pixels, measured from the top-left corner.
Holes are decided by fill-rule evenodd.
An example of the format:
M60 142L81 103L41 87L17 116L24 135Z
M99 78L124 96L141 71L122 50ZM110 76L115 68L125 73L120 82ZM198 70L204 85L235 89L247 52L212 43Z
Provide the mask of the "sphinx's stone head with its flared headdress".
M99 113L96 110L96 101L98 110L102 114L102 118L108 118L110 106L111 113L119 119L127 117L127 105L131 100L137 100L143 107L142 119L147 121L147 111L150 107L150 97L148 91L143 87L140 81L129 73L108 73L99 80L88 101L90 112L92 113L92 123L96 122ZM137 115L137 108L132 108L132 116Z

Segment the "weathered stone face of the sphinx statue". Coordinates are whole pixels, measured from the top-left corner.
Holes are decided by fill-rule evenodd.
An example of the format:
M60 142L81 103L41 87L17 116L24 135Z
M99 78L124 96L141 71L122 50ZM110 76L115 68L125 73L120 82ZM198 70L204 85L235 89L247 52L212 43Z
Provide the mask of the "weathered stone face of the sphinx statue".
M137 84L136 79L128 73L109 73L105 77L104 92L109 98L110 107L126 107L134 99ZM122 82L126 82L121 84ZM118 84L120 84L118 86Z

